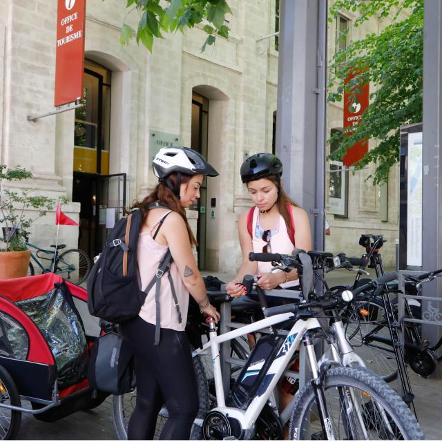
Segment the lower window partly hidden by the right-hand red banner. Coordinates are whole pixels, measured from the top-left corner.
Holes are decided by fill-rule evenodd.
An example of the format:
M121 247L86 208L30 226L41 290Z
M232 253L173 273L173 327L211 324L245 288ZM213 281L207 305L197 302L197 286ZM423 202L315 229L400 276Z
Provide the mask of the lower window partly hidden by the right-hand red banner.
M342 133L340 129L332 129L330 135ZM334 141L330 145L330 153L338 148L338 142ZM329 174L329 198L330 211L338 216L347 218L348 216L348 171L342 171L342 161L330 162Z

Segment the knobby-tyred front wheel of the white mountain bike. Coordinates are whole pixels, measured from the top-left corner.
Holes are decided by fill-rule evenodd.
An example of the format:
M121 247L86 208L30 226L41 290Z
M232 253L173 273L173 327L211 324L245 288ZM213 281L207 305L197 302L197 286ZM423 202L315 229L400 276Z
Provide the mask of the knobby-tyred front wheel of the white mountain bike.
M327 427L338 440L423 439L419 423L402 399L379 376L363 367L336 367L325 374ZM290 419L290 439L327 439L308 383L298 394Z

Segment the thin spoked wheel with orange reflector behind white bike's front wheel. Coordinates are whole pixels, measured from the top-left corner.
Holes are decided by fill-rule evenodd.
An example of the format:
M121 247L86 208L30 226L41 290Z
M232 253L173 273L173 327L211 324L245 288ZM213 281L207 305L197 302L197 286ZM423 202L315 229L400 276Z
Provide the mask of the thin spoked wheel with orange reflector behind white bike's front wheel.
M398 364L383 302L355 300L345 316L345 336L356 354L385 382L394 381Z

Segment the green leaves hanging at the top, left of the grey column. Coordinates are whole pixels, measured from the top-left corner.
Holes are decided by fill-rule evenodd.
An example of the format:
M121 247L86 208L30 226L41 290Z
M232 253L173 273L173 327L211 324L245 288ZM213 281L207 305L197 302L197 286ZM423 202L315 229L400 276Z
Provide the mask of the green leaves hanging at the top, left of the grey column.
M126 8L137 11L140 20L136 31L123 24L119 37L122 46L135 35L137 44L141 41L152 52L154 37L163 38L162 32L182 32L199 23L207 23L203 27L207 37L202 51L215 42L216 36L229 37L229 28L224 25L226 14L231 14L227 0L127 0Z

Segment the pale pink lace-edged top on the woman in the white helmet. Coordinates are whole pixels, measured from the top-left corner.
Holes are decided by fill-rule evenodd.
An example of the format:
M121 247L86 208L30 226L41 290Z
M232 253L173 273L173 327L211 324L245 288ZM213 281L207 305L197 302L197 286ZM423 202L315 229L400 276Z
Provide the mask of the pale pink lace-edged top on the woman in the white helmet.
M157 273L158 265L160 265L160 261L167 249L167 246L156 242L150 232L140 233L140 238L138 238L137 260L143 290L146 289L148 283L151 282L153 276ZM182 282L175 262L172 263L170 272L178 304L180 305L182 322L181 324L178 323L177 311L173 305L171 285L167 275L164 275L161 278L160 327L162 329L173 329L180 332L186 327L187 309L189 308L189 291ZM151 291L148 292L139 316L147 323L155 325L155 285L153 285Z

